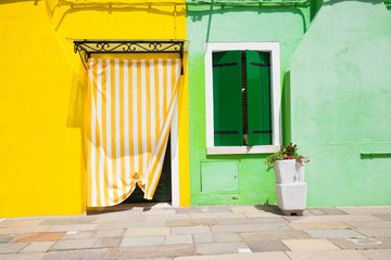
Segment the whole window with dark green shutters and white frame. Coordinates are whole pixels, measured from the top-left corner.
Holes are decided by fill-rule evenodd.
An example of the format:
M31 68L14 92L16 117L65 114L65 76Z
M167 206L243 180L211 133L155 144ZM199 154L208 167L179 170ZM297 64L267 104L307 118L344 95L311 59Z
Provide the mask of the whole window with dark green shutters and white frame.
M213 42L205 49L206 153L278 151L278 42Z

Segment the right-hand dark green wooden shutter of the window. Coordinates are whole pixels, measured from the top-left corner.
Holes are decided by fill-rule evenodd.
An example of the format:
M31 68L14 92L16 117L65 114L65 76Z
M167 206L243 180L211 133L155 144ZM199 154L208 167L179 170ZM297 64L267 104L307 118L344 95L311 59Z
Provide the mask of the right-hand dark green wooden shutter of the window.
M249 145L272 144L270 57L245 51Z

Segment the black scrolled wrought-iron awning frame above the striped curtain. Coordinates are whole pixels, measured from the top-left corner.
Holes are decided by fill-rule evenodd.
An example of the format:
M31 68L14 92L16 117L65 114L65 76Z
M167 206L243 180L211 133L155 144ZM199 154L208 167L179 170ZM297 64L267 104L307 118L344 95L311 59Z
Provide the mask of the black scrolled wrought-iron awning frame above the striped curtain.
M88 58L96 53L178 53L180 75L184 75L185 40L73 40L75 53L79 53L86 67Z

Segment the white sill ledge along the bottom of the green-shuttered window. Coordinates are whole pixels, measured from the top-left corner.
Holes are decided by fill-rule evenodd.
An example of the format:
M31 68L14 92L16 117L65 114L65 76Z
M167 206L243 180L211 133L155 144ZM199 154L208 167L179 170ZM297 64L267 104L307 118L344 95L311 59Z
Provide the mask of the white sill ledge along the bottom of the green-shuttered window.
M273 154L280 150L279 145L255 145L255 146L214 146L206 147L206 155L224 154Z

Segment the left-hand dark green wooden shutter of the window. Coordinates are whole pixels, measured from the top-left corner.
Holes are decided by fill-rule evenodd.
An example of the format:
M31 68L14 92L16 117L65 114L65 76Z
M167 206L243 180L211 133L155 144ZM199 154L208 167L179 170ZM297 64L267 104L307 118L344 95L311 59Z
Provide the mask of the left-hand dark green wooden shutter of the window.
M213 53L214 145L243 144L241 52Z

